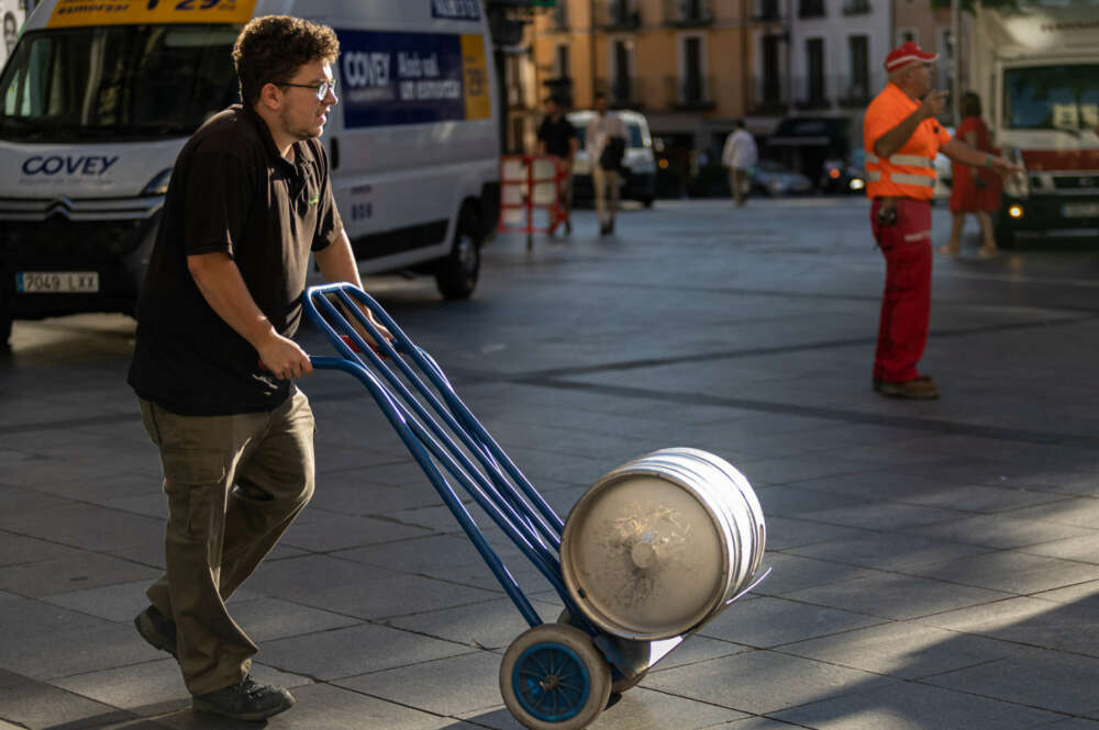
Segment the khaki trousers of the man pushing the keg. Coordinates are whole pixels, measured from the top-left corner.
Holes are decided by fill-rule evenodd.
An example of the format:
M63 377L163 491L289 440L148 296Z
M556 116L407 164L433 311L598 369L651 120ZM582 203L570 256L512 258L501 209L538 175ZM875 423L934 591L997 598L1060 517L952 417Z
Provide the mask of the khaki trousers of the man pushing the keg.
M313 414L297 390L271 413L180 416L138 404L168 496L168 570L146 594L176 622L184 682L203 695L252 669L258 647L225 602L313 494Z

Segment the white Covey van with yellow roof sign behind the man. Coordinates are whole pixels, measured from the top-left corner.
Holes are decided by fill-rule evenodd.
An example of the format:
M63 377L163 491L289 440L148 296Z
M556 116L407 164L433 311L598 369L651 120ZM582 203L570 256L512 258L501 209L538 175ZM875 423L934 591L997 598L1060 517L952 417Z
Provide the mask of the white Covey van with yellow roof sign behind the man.
M133 311L176 155L268 14L340 37L323 142L362 270L473 293L500 195L478 0L44 0L0 75L0 346L12 318Z

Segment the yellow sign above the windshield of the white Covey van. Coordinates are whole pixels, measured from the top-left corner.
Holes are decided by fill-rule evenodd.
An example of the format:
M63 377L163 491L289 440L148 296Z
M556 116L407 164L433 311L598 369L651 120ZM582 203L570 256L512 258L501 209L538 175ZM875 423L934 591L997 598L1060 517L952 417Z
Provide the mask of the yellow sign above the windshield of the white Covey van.
M57 0L46 27L246 23L256 0Z

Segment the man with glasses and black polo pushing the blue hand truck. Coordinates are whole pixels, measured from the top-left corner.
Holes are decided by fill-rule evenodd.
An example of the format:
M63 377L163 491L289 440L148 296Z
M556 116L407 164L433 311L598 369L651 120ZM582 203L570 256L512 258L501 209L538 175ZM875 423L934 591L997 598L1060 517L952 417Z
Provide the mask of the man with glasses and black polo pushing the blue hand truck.
M241 720L293 704L251 677L258 648L225 602L313 493L313 415L292 382L312 368L290 339L310 251L326 280L362 285L318 139L337 53L328 26L244 26L243 103L179 153L137 304L129 382L159 449L168 524L167 570L134 620L176 656L196 710Z

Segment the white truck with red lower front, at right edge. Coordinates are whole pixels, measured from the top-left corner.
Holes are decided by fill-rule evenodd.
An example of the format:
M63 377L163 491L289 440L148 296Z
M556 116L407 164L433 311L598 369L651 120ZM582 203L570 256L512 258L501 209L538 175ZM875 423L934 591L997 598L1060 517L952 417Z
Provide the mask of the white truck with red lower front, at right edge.
M997 240L1099 228L1099 0L977 4L962 36L966 87L1026 170L1004 184Z

